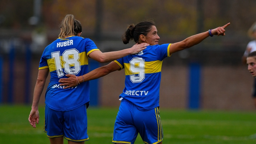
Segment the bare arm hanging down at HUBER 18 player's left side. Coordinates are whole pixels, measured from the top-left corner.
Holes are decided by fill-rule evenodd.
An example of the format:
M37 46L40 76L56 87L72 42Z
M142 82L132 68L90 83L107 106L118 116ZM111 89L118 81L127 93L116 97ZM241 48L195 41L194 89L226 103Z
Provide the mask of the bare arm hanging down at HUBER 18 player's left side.
M43 87L45 86L46 78L49 74L49 69L41 69L38 71L37 82L35 84L34 95L33 95L33 103L31 107L31 111L29 114L29 123L34 128L36 127L36 123L39 122L39 111L38 104L43 91Z

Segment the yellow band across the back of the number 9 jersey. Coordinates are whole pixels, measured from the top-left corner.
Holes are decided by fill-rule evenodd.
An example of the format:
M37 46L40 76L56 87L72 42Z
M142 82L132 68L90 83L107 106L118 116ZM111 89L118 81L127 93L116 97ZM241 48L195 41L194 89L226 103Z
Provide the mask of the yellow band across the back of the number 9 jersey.
M162 63L163 63L163 61L159 61L159 60L145 62L145 74L161 72ZM134 74L130 71L130 63L124 63L124 66L125 66L125 75Z

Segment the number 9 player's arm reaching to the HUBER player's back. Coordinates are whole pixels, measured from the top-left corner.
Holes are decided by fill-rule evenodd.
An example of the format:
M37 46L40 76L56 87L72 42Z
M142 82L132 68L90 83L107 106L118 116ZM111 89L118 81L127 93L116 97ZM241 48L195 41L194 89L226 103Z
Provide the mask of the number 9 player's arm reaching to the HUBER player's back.
M111 62L108 65L94 69L89 73L84 74L83 76L76 77L75 75L72 75L72 74L66 74L66 76L69 78L59 79L59 82L61 83L60 86L66 86L66 87L63 87L63 89L75 87L77 86L78 82L82 83L85 81L97 79L119 69L120 69L120 66L117 63Z

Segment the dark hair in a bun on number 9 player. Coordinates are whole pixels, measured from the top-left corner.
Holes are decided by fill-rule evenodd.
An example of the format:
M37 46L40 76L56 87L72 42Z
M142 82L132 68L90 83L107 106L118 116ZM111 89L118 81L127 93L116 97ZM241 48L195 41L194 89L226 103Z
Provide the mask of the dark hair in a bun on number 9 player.
M154 25L153 21L140 22L137 25L131 24L122 35L123 43L127 44L130 40L134 40L135 43L139 42L139 35L146 36Z

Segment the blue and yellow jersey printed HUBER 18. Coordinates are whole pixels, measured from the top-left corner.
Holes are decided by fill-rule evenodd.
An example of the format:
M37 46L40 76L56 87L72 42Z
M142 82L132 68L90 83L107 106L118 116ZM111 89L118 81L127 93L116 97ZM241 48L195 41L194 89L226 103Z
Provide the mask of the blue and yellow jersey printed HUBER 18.
M59 86L60 78L65 74L80 76L88 73L88 56L99 50L89 38L71 36L58 38L43 51L40 69L49 69L50 82L45 94L45 103L57 111L73 110L90 101L89 81L76 87L63 89Z

